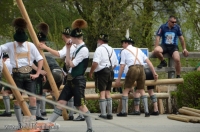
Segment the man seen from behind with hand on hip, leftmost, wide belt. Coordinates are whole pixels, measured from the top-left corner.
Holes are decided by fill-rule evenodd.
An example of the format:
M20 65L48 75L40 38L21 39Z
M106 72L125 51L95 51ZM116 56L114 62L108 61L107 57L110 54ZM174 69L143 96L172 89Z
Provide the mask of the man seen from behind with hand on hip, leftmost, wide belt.
M10 63L13 67L13 79L17 87L31 93L35 93L34 79L40 75L43 65L43 57L40 55L36 46L28 42L28 36L25 33L27 26L23 18L16 18L13 22L15 27L14 42L8 42L1 45L0 52L7 52L10 57ZM32 64L36 60L38 68L36 74L32 74ZM29 95L29 110L32 115L36 115L36 97ZM19 125L22 122L21 108L18 102L14 104L14 111Z

